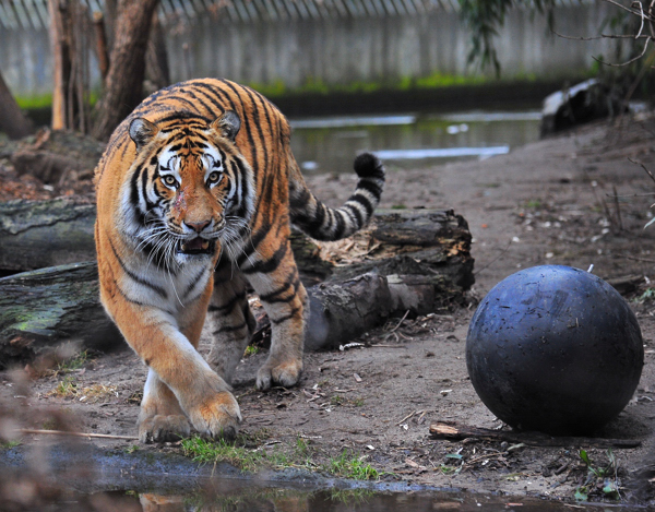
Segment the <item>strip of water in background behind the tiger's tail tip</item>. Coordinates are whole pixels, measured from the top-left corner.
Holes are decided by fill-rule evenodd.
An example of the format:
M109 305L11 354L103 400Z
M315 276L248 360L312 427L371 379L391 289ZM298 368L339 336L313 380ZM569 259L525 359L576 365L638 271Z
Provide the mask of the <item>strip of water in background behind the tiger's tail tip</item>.
M416 168L509 153L539 139L539 120L537 110L291 119L291 147L307 174L352 172L365 150Z

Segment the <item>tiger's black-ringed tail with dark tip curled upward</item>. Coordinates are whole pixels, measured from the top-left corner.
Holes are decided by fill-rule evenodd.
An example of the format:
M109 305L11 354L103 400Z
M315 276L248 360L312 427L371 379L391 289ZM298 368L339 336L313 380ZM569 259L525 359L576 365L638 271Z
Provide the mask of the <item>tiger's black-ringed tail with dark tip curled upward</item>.
M291 178L289 203L294 225L311 238L325 241L349 237L366 226L382 195L384 166L376 155L362 153L355 159L354 168L359 177L357 188L340 209L325 206L301 177Z

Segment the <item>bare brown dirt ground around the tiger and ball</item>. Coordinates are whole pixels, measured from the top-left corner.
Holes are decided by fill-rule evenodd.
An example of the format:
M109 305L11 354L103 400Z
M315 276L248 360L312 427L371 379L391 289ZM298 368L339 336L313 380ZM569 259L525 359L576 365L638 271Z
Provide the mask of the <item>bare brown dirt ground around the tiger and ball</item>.
M654 133L655 121L647 118L622 126L597 123L483 162L427 169L389 165L381 206L452 207L468 221L476 260L471 306L402 322L390 319L364 336L370 346L307 354L299 384L288 390L254 391L255 371L266 354L245 358L235 393L246 437L265 450L293 450L302 439L318 466L347 449L385 473L382 479L573 501L587 477L579 450L586 449L594 466L604 467L605 449L437 441L428 429L436 420L502 427L467 376L466 332L477 301L520 269L567 264L587 270L593 264L594 274L606 279L636 276L631 279L636 288L624 297L641 323L645 366L633 400L597 434L641 441L636 449L614 450L621 502L654 503L648 478L655 475L655 302L636 299L655 279L655 226L643 229L653 202L643 194L655 191L655 182L630 162L655 171ZM10 171L4 169L7 176ZM347 175L308 181L334 205L355 184ZM207 346L204 337L202 349ZM32 428L56 426L53 419L44 419L51 413L34 419L34 410L55 409L73 415L80 431L135 436L145 374L127 348L91 354L81 368L34 377L24 388L15 373L1 373L0 397L5 405L28 405L21 410L29 410ZM57 390L66 391L67 382L74 384L73 391L59 396ZM28 436L23 443L39 438ZM136 444L93 442L119 450ZM139 450L168 453L181 448L167 443ZM591 484L591 500L602 499L603 485L603 479Z

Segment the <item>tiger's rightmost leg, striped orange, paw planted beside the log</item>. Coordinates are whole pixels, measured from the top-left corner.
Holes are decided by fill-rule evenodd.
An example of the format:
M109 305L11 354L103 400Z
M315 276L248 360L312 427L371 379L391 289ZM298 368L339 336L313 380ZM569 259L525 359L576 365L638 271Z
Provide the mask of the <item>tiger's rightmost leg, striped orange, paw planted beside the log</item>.
M308 295L300 282L288 238L264 262L243 269L271 320L271 352L259 369L257 386L290 386L302 372L302 348L309 312Z

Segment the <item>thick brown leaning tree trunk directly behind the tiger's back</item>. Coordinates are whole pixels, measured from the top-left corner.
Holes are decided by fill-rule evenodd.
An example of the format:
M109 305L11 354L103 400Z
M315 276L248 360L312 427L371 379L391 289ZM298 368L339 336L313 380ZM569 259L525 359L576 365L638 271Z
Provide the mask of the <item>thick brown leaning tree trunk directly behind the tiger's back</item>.
M96 139L109 139L114 129L142 99L145 51L157 3L158 0L118 2L109 73L105 93L97 105L97 119L93 130Z

